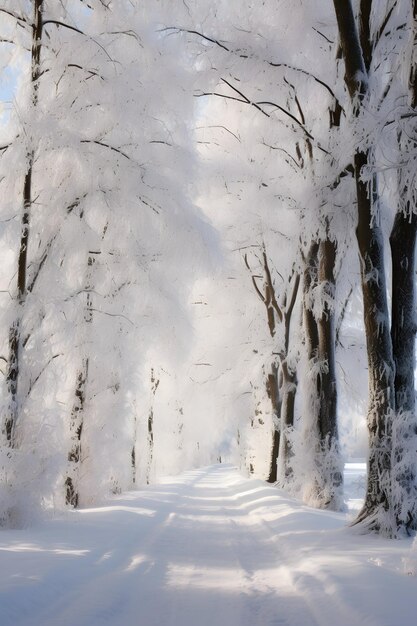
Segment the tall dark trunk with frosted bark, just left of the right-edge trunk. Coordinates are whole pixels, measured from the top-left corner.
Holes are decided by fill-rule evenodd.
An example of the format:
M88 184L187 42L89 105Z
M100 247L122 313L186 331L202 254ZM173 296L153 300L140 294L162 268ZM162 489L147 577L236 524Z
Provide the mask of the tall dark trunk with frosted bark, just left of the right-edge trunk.
M345 81L356 112L366 94L367 71L350 1L334 0L343 57ZM370 152L354 156L358 201L356 236L359 246L364 322L368 354L368 434L369 459L365 502L356 522L385 534L396 533L392 510L391 435L394 409L394 363L389 328L385 284L384 248L375 202L376 181L372 193L362 181L362 170L370 164ZM380 512L384 511L384 522Z

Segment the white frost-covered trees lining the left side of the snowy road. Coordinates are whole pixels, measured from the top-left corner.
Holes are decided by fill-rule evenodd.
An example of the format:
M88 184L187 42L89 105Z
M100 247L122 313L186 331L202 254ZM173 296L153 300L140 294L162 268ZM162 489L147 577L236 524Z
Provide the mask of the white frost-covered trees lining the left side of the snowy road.
M4 523L147 472L147 353L170 348L205 228L184 191L192 90L151 4L0 3Z

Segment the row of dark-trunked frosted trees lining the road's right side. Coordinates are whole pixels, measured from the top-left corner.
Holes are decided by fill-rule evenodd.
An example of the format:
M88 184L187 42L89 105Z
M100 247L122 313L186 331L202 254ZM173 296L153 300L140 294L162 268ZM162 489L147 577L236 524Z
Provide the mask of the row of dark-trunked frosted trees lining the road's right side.
M343 244L347 241L351 246L356 234L369 376L368 480L364 507L356 523L397 536L416 525L416 4L410 1L400 6L395 1L361 0L324 5L313 11L293 3L290 15L288 3L282 2L282 30L276 29L275 22L273 30L264 24L259 29L253 16L239 18L230 7L226 10L218 4L211 13L206 7L201 29L190 23L172 30L188 42L199 40L205 50L210 49L208 65L213 82L196 95L227 102L229 106L224 111L237 107L241 121L243 109L251 109L246 115L252 120L255 109L256 128L252 128L251 143L246 149L252 150L255 160L254 155L260 154L259 146L257 153L253 148L253 141L257 140L269 148L271 155L272 151L280 153L288 165L287 171L292 170L288 174L290 182L280 180L275 194L275 201L282 200L285 189L285 200L293 203L299 215L298 228L290 233L292 250L287 247L284 252L293 253L291 269L287 271L289 278L282 270L283 254L274 250L273 244L265 247L263 233L257 244L260 253L256 269L248 253L244 253L273 339L265 384L279 423L272 447L270 479L277 477L281 484L288 484L291 473L302 464L296 454L292 409L288 412L286 401L288 389L294 394L298 378L297 389L302 380L302 394L310 395L306 403L309 415L306 411L302 416L305 426L301 429L309 442L307 451L314 451L313 499L319 506L340 505L334 349L347 303L340 297L342 287L342 306L335 323L336 264L342 263ZM253 6L250 9L256 12ZM269 11L271 7L264 5L257 17ZM219 20L226 26L220 28ZM297 20L301 25L298 32ZM303 35L300 46L301 32L306 31L308 36ZM213 105L215 115L216 107ZM262 117L266 120L258 119ZM239 127L233 125L230 117L225 119L229 130L237 133ZM277 125L281 132L276 131ZM241 136L238 140L241 142ZM276 155L271 160L272 167L277 167ZM272 180L272 167L266 165L262 172L261 192L262 187L270 184L268 175ZM282 164L278 167L284 169ZM297 187L301 187L301 193ZM346 196L350 209L346 207ZM262 203L258 202L259 221ZM348 211L350 224L348 220L343 222L340 215ZM280 217L284 215L281 212ZM392 220L390 264L384 252L387 216ZM282 220L280 228L283 229ZM248 241L256 244L247 235ZM295 237L299 238L298 250ZM279 245L285 247L282 240ZM272 265L277 267L275 280L271 278ZM386 275L390 265L392 280L388 289ZM288 361L282 357L288 352L288 335L285 331L278 335L276 329L283 321L280 299L288 297L294 272L303 277L304 314L302 345L291 363L288 386ZM297 333L292 334L294 339L299 340ZM304 379L295 375L300 365ZM293 405L292 399L290 404ZM279 439L289 440L289 445L280 445ZM274 467L278 449L278 464Z

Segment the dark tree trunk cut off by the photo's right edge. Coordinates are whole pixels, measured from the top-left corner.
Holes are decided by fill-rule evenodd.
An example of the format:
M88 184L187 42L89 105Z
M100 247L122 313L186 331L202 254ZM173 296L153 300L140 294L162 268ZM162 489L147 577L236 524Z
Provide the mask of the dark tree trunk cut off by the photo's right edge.
M417 46L417 0L412 2L412 47ZM417 110L417 63L411 59L409 73L409 104ZM412 135L399 131L398 145L402 153L413 154L417 142ZM415 417L415 244L417 215L413 183L407 172L398 171L399 208L390 236L392 260L391 340L395 362L395 405L392 456L396 463L395 514L398 526L417 528L417 476L415 450L417 426ZM410 189L411 187L411 189ZM411 192L411 194L410 194Z

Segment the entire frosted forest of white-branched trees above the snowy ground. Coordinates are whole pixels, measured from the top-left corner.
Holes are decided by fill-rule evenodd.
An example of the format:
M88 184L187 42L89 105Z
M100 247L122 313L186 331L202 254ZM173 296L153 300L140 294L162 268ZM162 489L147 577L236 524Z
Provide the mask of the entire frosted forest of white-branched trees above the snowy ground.
M232 463L417 529L417 0L0 0L0 526Z

